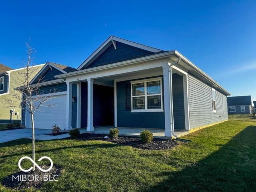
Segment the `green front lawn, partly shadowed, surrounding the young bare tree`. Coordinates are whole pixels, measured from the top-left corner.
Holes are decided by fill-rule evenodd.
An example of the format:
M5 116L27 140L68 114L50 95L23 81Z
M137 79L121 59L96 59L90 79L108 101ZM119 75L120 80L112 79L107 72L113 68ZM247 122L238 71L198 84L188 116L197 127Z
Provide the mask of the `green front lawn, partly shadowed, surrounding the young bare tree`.
M40 191L256 191L256 122L229 120L183 138L193 142L164 151L37 141L36 159L49 156L63 169L58 182L46 182ZM0 144L0 181L19 171L22 156L31 156L31 140ZM0 184L1 190L11 191Z

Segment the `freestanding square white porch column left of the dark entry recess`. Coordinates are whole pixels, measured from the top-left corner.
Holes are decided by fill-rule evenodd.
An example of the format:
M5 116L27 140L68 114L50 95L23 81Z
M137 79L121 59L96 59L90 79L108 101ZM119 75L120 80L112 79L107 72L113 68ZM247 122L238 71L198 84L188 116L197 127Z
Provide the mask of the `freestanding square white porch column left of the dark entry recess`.
M87 99L87 131L94 131L93 128L93 79L88 79Z

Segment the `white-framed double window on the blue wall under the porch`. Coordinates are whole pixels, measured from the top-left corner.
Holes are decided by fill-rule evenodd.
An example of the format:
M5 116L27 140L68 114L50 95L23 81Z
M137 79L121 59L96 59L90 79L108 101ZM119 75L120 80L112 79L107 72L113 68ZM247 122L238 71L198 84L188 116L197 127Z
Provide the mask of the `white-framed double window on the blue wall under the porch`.
M160 112L162 104L162 79L153 78L131 82L132 112Z

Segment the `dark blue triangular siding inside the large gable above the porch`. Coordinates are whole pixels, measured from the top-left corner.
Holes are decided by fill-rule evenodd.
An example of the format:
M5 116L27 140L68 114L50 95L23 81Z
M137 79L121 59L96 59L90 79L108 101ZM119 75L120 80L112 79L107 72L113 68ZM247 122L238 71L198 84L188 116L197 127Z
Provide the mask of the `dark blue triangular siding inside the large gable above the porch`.
M151 53L152 52L150 51L136 48L134 46L130 46L121 42L116 42L115 50L112 42L110 42L110 46L98 58L96 58L96 60L94 60L87 68L103 66L124 60L130 60L140 56L146 56ZM82 69L84 68L86 68L86 66L84 66Z

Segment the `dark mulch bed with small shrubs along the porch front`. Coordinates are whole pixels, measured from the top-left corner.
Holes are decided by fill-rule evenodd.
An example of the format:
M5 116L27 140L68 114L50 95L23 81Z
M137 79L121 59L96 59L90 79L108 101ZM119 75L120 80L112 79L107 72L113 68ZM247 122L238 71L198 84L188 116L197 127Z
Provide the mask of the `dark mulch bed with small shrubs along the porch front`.
M108 136L108 135L84 133L84 134L80 134L78 139L109 141L109 142L113 142L120 145L132 146L134 148L146 149L146 150L166 150L166 149L171 149L183 143L177 140L160 139L160 138L154 138L152 142L143 143L139 137L118 136L118 138L104 138L104 136Z

